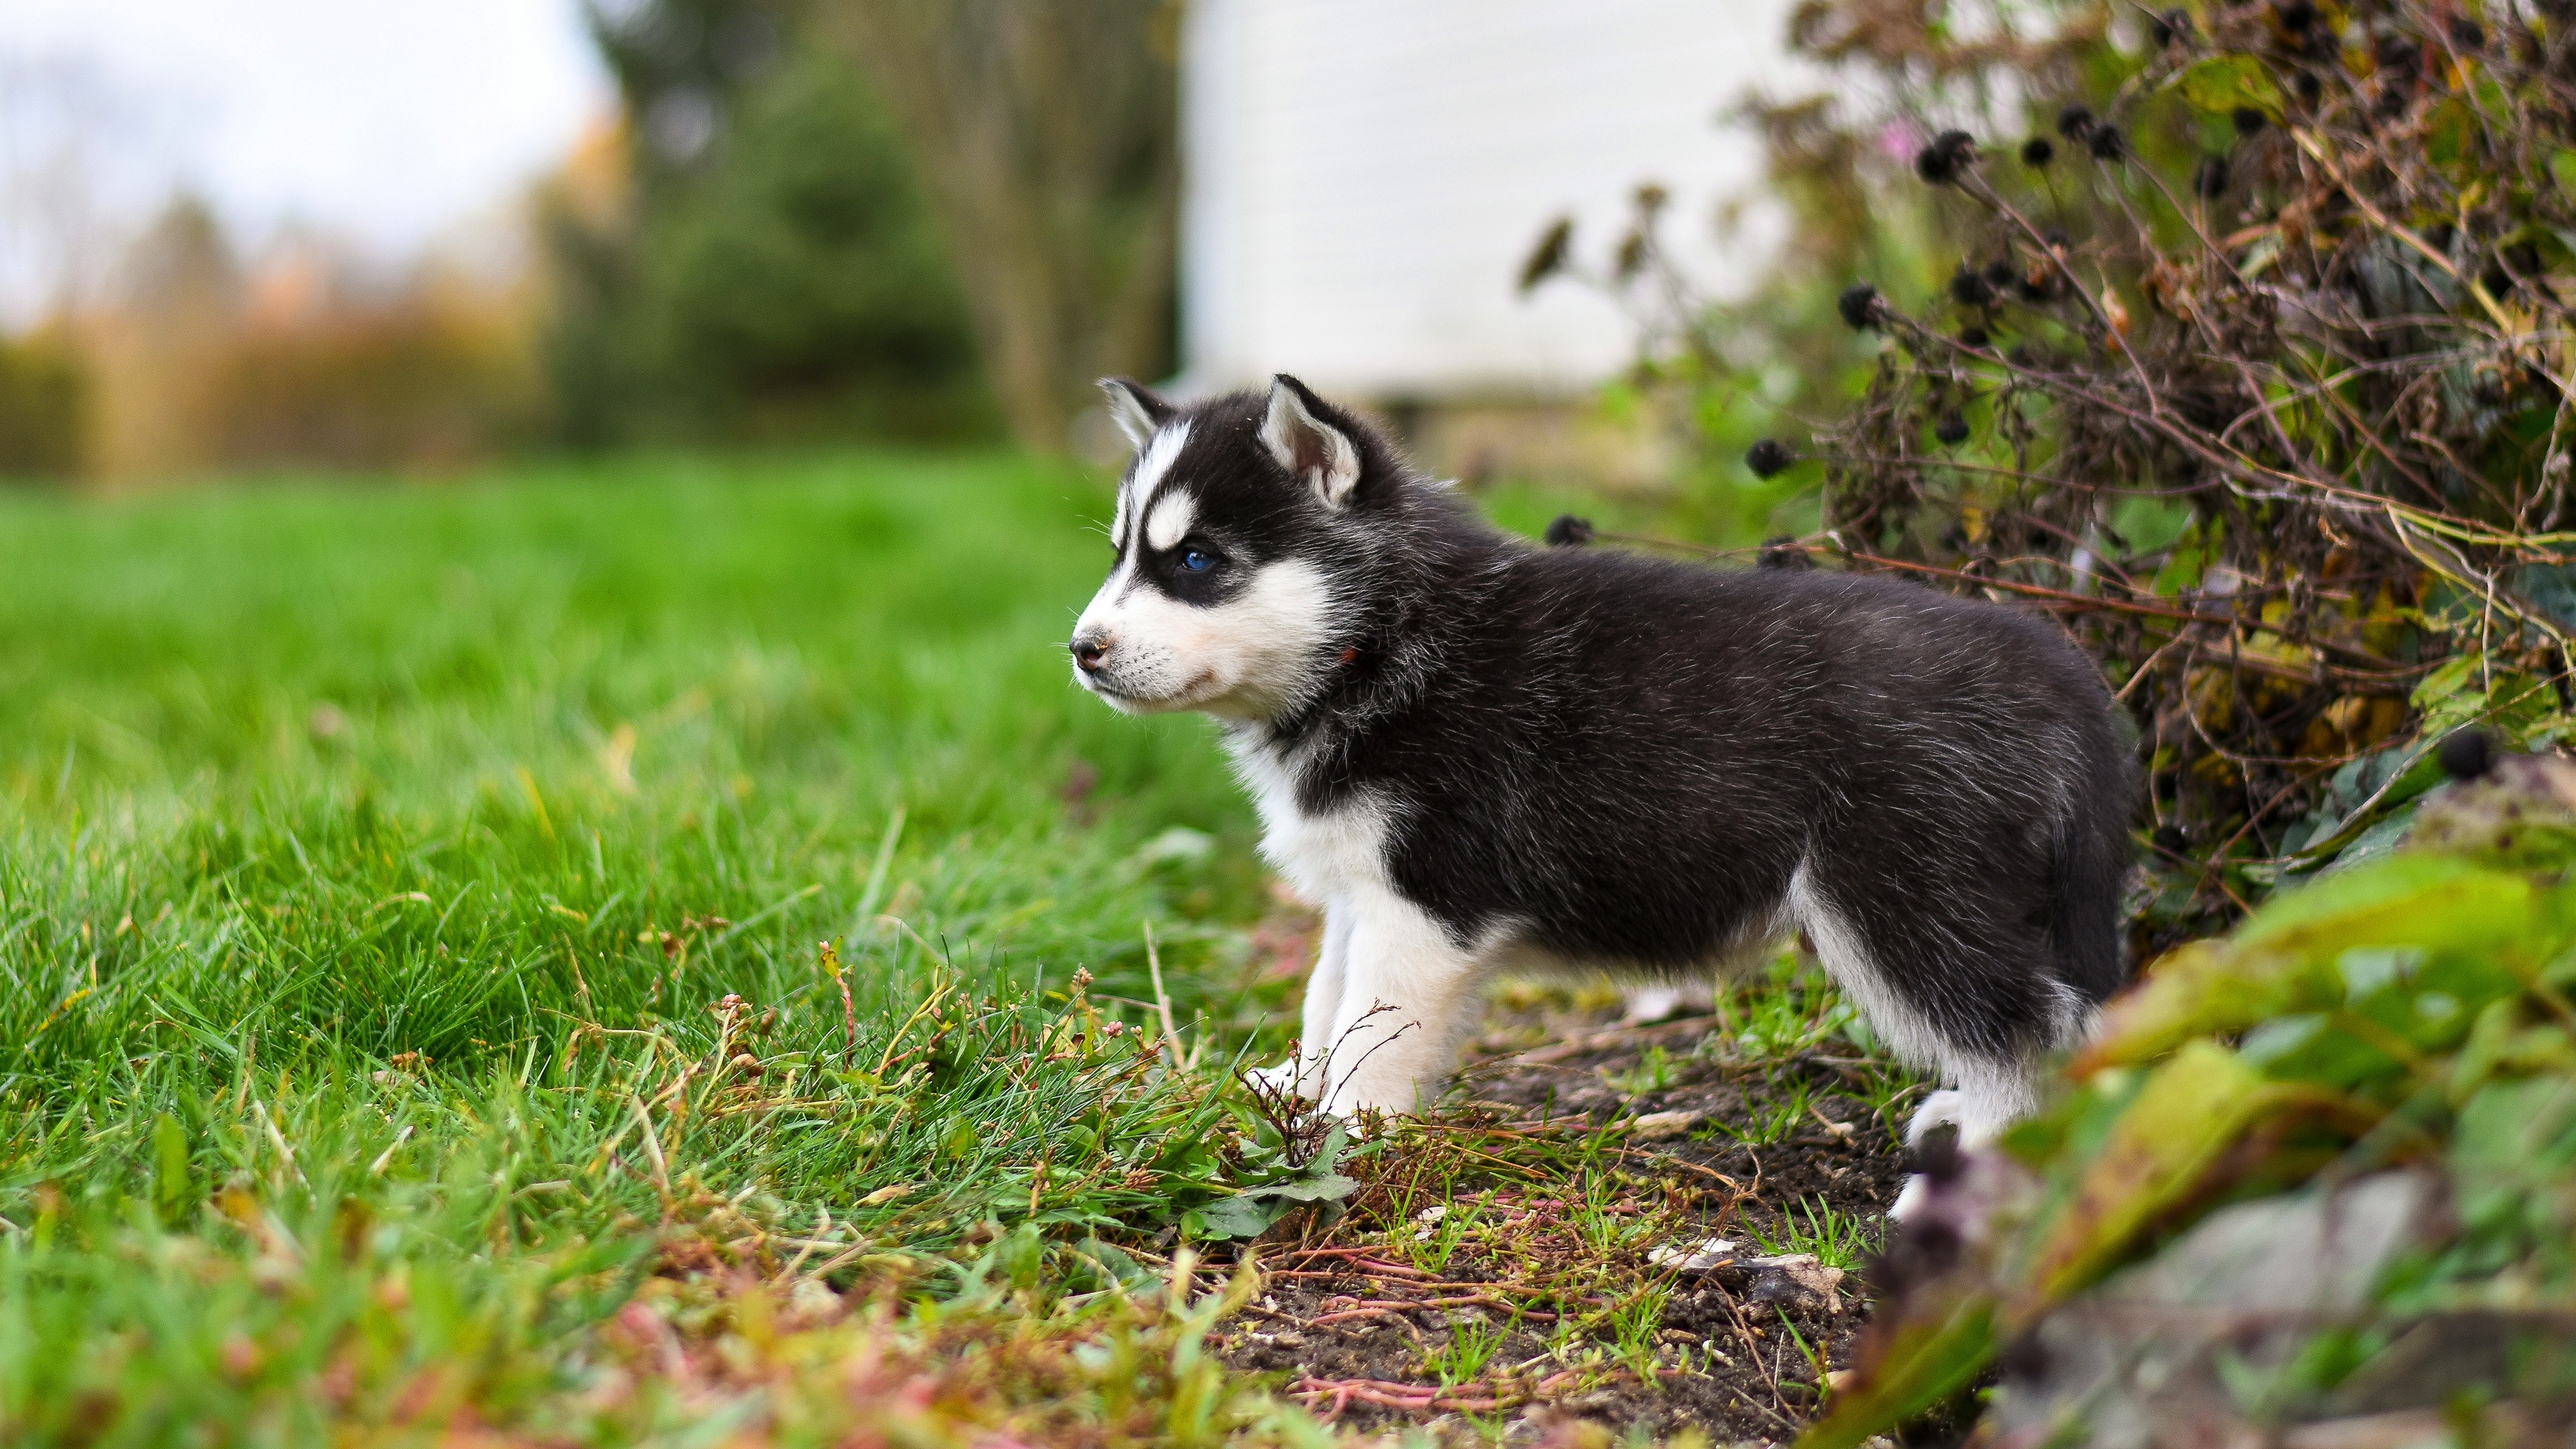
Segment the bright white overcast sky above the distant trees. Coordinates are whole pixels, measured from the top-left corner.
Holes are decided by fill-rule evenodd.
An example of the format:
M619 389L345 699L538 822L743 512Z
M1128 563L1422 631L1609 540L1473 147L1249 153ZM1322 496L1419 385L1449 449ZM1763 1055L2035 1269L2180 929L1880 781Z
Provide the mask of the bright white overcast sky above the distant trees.
M580 0L0 0L0 64L31 62L95 70L129 173L252 235L299 219L386 253L507 199L611 106Z

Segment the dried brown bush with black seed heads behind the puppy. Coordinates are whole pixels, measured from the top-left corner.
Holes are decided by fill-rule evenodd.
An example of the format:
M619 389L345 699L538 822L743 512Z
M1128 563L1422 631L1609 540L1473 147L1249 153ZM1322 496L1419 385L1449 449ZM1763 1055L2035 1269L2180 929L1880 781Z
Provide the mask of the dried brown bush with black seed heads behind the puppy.
M2432 727L2555 740L2571 21L1808 0L1790 41L1842 98L1749 108L1788 281L1875 343L1803 392L1839 413L1803 541L2050 608L2105 663L2166 874L2141 949L2393 838ZM1723 361L1741 312L1685 307L1649 371Z

